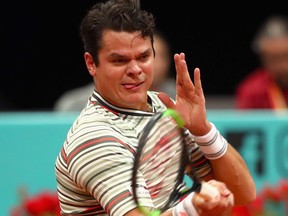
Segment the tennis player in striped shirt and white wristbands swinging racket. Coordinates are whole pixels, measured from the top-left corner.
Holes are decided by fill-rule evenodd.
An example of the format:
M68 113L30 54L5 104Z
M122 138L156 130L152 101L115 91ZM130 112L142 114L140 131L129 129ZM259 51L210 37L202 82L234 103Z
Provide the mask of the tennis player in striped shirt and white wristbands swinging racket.
M184 53L174 55L175 101L165 93L148 91L157 55L154 30L154 16L142 10L137 0L96 3L81 22L84 60L94 91L56 159L62 215L140 216L152 215L142 207L154 213L161 208L175 186L171 176L178 169L172 163L174 154L163 152L177 137L161 145L157 156L146 157L139 168L141 208L131 193L131 176L143 128L156 112L166 108L184 119L191 161L197 175L213 190L208 187L200 194L191 193L159 214L229 215L234 204L255 199L255 185L245 161L207 119L200 70L194 69L192 82ZM165 126L152 133L150 140L155 142L149 142L143 154L149 155L149 149L155 152L155 143L165 140L169 131Z

